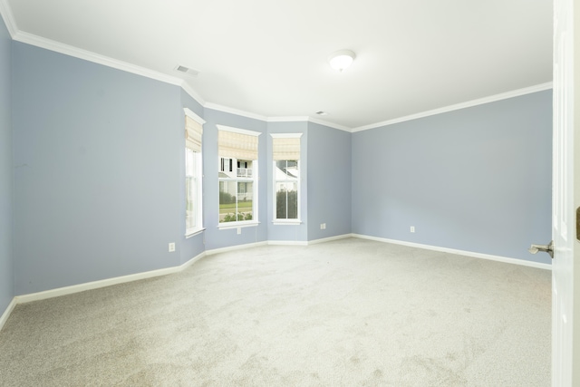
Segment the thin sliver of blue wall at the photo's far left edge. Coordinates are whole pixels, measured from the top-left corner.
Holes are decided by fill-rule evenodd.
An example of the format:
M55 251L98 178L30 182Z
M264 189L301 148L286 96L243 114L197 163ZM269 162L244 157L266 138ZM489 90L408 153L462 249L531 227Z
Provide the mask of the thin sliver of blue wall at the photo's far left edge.
M14 297L11 47L0 17L0 315Z

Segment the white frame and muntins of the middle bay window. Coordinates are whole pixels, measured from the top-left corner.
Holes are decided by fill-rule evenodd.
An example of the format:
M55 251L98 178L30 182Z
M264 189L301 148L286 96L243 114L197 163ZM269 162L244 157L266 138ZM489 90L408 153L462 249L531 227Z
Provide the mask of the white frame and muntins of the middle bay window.
M220 222L219 221L219 200L218 200L218 228L219 229L228 229L228 228L238 228L238 227L256 227L260 222L258 221L258 202L259 202L259 198L258 198L258 184L259 184L259 173L258 173L258 162L259 162L259 138L258 136L260 134L262 134L259 131L249 131L246 129L241 129L241 128L235 128L235 127L231 127L231 126L226 126L226 125L216 125L218 127L218 131L231 131L234 133L239 133L239 134L246 134L249 136L254 136L256 137L257 143L258 143L258 150L256 151L256 160L245 160L245 159L237 159L234 157L231 157L229 155L222 155L220 154L220 147L219 147L219 140L218 140L218 165L221 165L221 160L230 160L230 165L232 166L232 173L236 172L237 175L237 162L234 163L234 160L239 161L251 161L252 162L252 177L251 178L247 178L247 177L238 177L236 176L235 178L222 178L219 177L218 174L218 194L220 192L220 186L222 182L233 182L236 184L236 190L238 187L239 183L248 183L251 182L252 183L252 219L251 220L236 220L236 221L231 221L231 222ZM219 136L218 136L219 137ZM224 171L225 172L225 171ZM238 200L238 195L236 196L236 201ZM239 211L237 211L239 212Z

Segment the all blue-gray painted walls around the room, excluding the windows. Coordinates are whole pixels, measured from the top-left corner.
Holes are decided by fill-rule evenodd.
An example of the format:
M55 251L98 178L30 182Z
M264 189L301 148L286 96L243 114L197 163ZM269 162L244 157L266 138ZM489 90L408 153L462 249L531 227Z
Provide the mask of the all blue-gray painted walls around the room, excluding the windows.
M0 311L14 295L179 266L206 250L351 232L549 262L527 254L550 237L549 91L348 133L203 108L179 86L11 43L5 28L0 53ZM190 238L184 107L207 121L206 230ZM218 229L217 124L262 133L259 224L239 235ZM299 226L272 224L275 132L304 133Z

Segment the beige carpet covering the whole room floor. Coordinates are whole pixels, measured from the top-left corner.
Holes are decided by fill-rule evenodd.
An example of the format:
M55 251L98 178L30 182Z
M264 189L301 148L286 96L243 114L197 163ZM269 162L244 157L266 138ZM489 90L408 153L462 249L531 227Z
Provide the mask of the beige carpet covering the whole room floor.
M549 386L551 273L348 238L17 305L2 386Z

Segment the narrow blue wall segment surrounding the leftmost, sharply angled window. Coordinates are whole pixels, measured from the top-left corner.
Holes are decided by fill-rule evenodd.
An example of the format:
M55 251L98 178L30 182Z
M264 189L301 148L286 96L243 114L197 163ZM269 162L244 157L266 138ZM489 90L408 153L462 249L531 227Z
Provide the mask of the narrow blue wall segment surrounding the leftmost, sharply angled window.
M181 105L183 108L188 108L189 110L195 112L196 114L198 114L199 117L203 118L203 107L193 98L191 98L191 96L187 93L184 92L183 89L181 89ZM181 111L182 114L182 120L183 120L183 128L181 129L181 133L182 133L182 150L180 151L179 155L180 155L180 160L179 160L179 176L185 176L185 113L183 111ZM205 147L204 142L202 141L201 144L202 147ZM203 148L202 148L202 154L203 154ZM203 166L205 167L205 166ZM202 172L202 173L205 173ZM179 189L179 203L180 203L180 208L179 208L179 213L180 214L185 214L185 179L181 179L181 189ZM202 179L202 184L203 184L203 179ZM202 185L203 188L203 185ZM203 199L202 199L203 200ZM180 256L180 263L181 264L185 264L186 262L189 261L189 259L194 258L196 256L198 256L199 254L203 253L206 249L205 246L205 232L201 232L197 235L194 235L192 237L185 237L185 215L180 216L179 219L183 218L183 221L180 224L179 227L179 232L180 234L180 243L176 244L176 249L179 248L179 256ZM179 247L178 247L179 245Z

